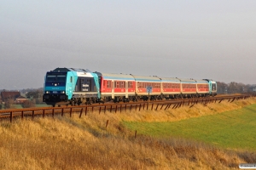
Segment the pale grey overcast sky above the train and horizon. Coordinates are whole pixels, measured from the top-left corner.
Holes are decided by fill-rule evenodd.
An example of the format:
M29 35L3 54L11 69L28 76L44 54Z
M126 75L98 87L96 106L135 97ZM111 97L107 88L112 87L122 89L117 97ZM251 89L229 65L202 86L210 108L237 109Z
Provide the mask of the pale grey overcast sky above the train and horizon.
M1 0L0 89L72 67L256 83L255 0Z

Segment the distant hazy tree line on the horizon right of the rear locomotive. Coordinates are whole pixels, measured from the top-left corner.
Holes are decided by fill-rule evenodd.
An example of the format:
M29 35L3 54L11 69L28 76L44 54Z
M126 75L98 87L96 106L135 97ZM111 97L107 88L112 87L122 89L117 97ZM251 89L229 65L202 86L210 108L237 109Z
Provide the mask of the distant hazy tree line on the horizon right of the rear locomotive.
M218 94L244 94L255 93L256 85L243 84L241 82L217 82Z

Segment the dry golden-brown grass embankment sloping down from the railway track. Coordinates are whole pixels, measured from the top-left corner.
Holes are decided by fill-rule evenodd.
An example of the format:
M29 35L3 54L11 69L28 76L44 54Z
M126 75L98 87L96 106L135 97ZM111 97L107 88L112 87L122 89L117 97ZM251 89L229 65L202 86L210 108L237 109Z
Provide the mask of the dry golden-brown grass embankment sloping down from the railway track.
M247 99L235 101L232 104L222 102L210 104L207 107L199 104L191 109L181 107L168 111L123 111L122 113L107 111L106 114L100 115L96 111L89 112L87 116L83 115L81 119L77 114L71 118L55 116L55 119L52 119L49 116L35 118L34 121L16 119L12 124L8 121L1 121L0 169L238 168L241 162L256 162L255 152L251 149L226 150L223 147L209 144L211 142L203 143L201 139L196 141L195 136L186 136L186 133L183 134L185 138L180 138L176 134L165 133L163 130L156 134L156 130L153 129L148 132L149 134L154 132L154 137L149 137L142 134L146 131L140 131L140 128L131 130L125 125L138 125L134 122L140 122L153 123L150 126L154 127L156 122L160 124L185 123L190 120L204 122L202 118L205 120L207 117L212 117L212 120L215 116L221 118L220 112L241 109L255 103L255 99ZM253 105L248 108L252 109L252 107ZM224 114L227 115L227 113ZM230 119L242 120L239 113L236 115ZM244 118L247 122L247 116ZM106 127L107 120L109 121L108 127ZM254 126L253 122L250 123ZM210 125L211 122L208 124ZM236 124L232 125L236 127ZM183 125L180 124L177 131L180 130L182 133ZM189 126L184 125L188 127L187 129ZM194 127L199 133L204 132L200 126L194 124ZM190 133L194 127L191 125ZM244 128L251 130L247 129L249 127ZM134 138L135 129L138 132L137 139ZM226 141L226 143L229 142Z

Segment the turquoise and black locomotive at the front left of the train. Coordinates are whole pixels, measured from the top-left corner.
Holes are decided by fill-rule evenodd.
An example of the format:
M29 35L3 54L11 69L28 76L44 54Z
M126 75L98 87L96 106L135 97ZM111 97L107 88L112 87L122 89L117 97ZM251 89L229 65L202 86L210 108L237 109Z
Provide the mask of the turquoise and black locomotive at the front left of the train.
M44 77L43 100L48 105L75 105L101 99L99 77L84 69L56 68ZM85 100L86 101L85 101Z

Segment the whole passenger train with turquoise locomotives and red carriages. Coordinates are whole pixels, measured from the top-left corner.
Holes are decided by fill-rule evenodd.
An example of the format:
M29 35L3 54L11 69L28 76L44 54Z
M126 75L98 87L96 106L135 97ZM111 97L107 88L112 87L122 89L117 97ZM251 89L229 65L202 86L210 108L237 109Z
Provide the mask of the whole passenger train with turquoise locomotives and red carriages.
M43 101L47 105L91 105L156 99L214 97L212 79L137 76L56 68L44 77Z

